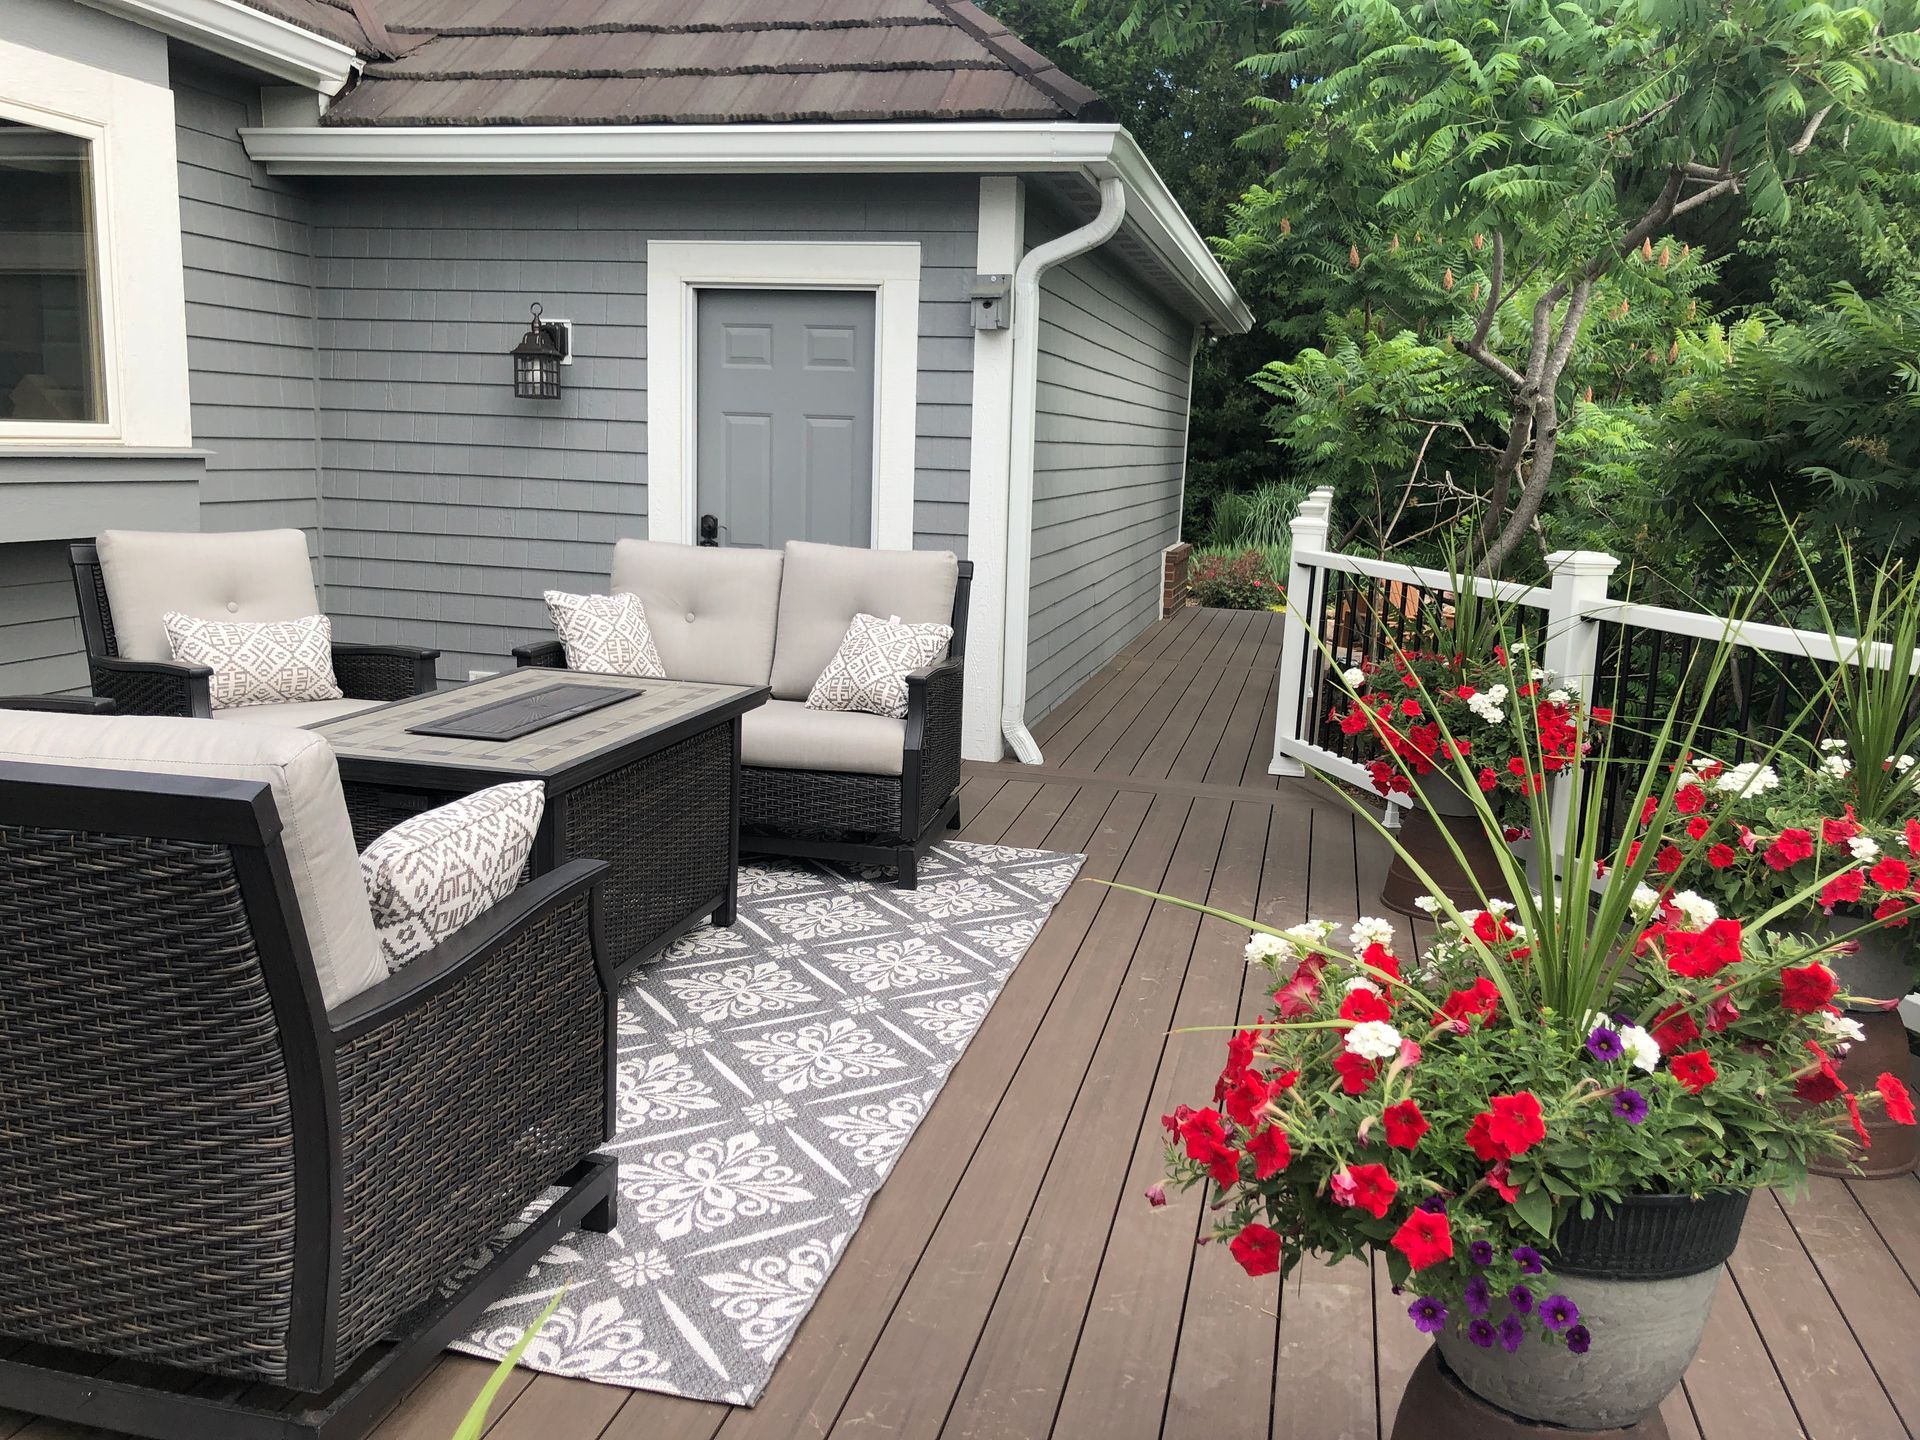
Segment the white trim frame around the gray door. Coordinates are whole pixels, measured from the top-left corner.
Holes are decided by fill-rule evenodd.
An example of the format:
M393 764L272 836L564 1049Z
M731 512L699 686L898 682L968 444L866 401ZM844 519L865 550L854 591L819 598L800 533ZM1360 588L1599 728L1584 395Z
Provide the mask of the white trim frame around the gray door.
M920 244L789 240L647 242L647 538L691 543L695 303L701 290L874 294L876 549L914 547L914 434L920 401Z

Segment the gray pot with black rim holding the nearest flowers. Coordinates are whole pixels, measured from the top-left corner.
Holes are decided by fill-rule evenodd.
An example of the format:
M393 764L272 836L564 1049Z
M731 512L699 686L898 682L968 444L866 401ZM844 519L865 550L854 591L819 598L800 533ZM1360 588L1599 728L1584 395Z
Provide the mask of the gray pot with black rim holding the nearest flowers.
M1594 1348L1574 1356L1528 1332L1511 1356L1480 1350L1461 1319L1440 1332L1440 1356L1475 1396L1511 1415L1576 1432L1638 1425L1693 1363L1745 1213L1745 1192L1634 1196L1613 1215L1567 1223L1553 1283L1540 1294L1569 1296Z

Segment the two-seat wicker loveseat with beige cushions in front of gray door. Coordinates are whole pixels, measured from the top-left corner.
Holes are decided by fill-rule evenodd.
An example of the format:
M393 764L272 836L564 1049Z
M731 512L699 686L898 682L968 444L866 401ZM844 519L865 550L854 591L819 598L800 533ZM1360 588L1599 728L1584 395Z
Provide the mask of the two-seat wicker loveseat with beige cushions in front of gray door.
M960 703L973 566L950 551L789 541L783 551L622 540L614 591L639 597L670 680L772 685L741 722L741 849L893 866L960 816ZM860 612L950 624L947 659L906 678L906 718L808 710ZM515 649L564 666L559 641Z

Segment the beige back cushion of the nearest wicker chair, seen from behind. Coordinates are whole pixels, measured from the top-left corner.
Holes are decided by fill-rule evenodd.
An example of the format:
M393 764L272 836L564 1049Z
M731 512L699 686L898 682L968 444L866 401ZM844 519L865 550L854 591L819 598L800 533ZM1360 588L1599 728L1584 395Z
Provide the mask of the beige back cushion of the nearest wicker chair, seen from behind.
M321 998L332 1008L386 979L340 793L340 766L319 735L173 716L0 710L0 760L265 781L280 814Z

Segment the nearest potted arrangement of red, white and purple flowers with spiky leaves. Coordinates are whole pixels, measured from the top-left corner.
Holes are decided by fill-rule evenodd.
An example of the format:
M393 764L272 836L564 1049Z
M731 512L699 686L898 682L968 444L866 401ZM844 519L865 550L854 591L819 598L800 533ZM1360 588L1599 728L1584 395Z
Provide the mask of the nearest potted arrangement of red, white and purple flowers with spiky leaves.
M1517 753L1544 770L1530 716L1517 708ZM1565 864L1540 891L1496 851L1505 897L1459 906L1434 887L1425 954L1379 920L1342 937L1225 916L1252 931L1273 1008L1233 1031L1213 1094L1165 1116L1171 1179L1208 1187L1210 1238L1254 1275L1384 1256L1409 1323L1436 1342L1413 1380L1427 1388L1402 1404L1409 1440L1532 1432L1513 1417L1638 1425L1699 1344L1747 1196L1795 1183L1859 1129L1820 945L1768 929L1778 904L1722 914L1655 883L1686 822L1684 770L1665 760L1692 732L1676 743L1674 724L1653 737L1634 841L1605 843L1599 806L1565 814ZM1473 780L1471 751L1442 753ZM1576 785L1607 762L1584 733L1565 755ZM1544 833L1544 797L1524 801ZM1484 803L1476 816L1498 826ZM1899 1075L1874 1092L1912 1123ZM1434 1428L1440 1413L1453 1428Z

